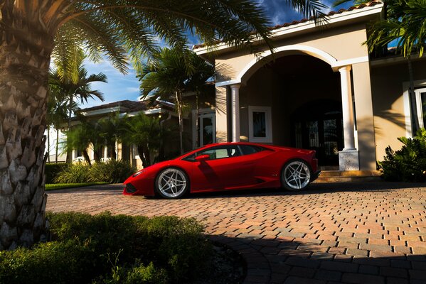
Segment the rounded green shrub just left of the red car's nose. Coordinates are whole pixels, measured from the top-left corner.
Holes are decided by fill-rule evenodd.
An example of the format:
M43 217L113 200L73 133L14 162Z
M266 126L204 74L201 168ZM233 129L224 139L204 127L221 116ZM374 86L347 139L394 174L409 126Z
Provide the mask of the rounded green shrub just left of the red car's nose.
M124 160L109 160L106 163L94 163L89 170L89 182L124 182L136 168Z

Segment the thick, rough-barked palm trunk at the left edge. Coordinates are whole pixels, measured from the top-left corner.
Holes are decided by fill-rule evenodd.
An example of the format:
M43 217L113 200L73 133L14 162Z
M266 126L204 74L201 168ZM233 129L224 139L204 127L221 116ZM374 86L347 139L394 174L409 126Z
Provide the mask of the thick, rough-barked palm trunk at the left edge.
M46 229L43 133L54 34L36 11L10 6L0 10L0 250L31 246Z

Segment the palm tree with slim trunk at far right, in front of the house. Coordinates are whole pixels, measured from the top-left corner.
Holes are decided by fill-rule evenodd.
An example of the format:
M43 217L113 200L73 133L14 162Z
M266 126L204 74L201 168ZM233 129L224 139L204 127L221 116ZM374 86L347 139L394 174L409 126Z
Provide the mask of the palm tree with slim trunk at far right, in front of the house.
M348 0L336 1L335 6ZM369 1L356 1L363 4ZM418 53L422 57L426 45L426 2L424 0L384 0L385 18L374 21L368 27L368 38L364 44L373 53L378 49L387 49L389 43L395 43L397 51L407 59L410 77L410 112L412 114L412 133L416 133L420 124L415 104L414 76L411 56Z

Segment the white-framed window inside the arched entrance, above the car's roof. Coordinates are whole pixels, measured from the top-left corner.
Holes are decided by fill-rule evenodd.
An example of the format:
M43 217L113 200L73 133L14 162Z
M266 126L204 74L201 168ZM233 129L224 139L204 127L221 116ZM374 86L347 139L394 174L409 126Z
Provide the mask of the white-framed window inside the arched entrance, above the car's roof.
M248 107L249 140L272 143L272 119L270 107Z

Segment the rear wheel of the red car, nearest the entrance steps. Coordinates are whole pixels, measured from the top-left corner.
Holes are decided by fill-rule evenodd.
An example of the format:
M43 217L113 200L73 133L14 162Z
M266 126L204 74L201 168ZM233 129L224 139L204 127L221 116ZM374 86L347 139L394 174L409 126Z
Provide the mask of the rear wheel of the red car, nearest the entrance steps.
M302 191L311 182L312 171L304 160L290 160L281 171L281 184L286 190Z

